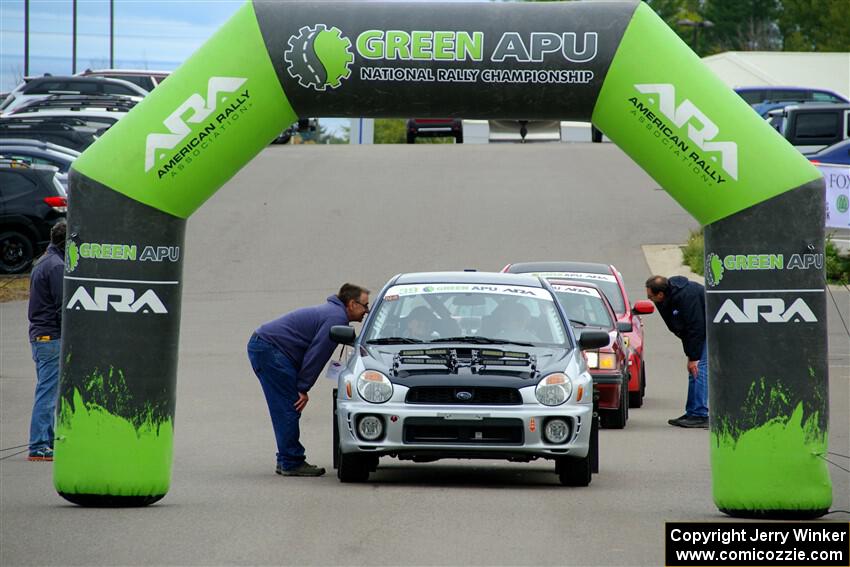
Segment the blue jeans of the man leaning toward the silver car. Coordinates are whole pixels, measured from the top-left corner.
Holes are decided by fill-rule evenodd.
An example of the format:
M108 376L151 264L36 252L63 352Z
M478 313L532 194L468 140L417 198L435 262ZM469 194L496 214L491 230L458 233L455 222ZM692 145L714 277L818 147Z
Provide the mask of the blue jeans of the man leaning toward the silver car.
M299 441L301 413L294 406L298 400L295 366L288 356L257 335L248 341L248 360L269 405L277 441L277 463L285 470L297 468L304 462L304 446Z

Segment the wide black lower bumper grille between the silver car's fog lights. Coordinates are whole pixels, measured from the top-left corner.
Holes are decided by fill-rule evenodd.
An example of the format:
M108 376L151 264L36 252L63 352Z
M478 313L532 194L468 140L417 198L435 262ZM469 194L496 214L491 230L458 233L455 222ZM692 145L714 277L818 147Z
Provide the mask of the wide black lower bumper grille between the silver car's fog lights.
M404 420L405 443L522 445L523 435L521 419L489 418L455 421L431 417L410 417Z

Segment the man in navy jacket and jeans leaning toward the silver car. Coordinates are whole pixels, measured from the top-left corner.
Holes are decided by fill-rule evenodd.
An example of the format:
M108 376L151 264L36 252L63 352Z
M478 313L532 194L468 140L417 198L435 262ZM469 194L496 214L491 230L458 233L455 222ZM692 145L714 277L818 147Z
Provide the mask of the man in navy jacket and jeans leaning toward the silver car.
M283 476L321 476L309 464L298 421L307 392L333 355L330 328L362 321L369 312L369 290L344 284L327 303L304 307L260 326L248 341L248 360L266 395L277 440L277 468Z

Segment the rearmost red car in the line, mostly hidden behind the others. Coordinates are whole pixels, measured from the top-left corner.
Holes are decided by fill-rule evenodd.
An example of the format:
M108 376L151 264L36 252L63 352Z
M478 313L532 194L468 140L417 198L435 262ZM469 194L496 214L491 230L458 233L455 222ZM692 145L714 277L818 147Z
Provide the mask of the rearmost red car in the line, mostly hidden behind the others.
M631 332L624 333L626 346L631 350L629 358L629 407L643 405L646 392L646 364L643 356L643 322L640 315L655 311L651 301L642 299L634 305L623 285L623 276L610 264L589 262L524 262L508 264L503 272L513 274L533 273L546 279L560 278L595 283L599 286L617 314L617 320L632 324Z

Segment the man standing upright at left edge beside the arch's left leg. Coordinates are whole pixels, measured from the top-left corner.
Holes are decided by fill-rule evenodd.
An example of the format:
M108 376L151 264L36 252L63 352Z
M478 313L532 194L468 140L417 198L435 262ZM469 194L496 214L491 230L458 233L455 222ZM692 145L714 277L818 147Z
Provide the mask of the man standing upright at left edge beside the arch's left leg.
M50 230L50 245L30 274L28 317L35 362L35 401L30 419L30 461L53 460L53 421L59 394L59 335L62 330L62 278L65 221Z

